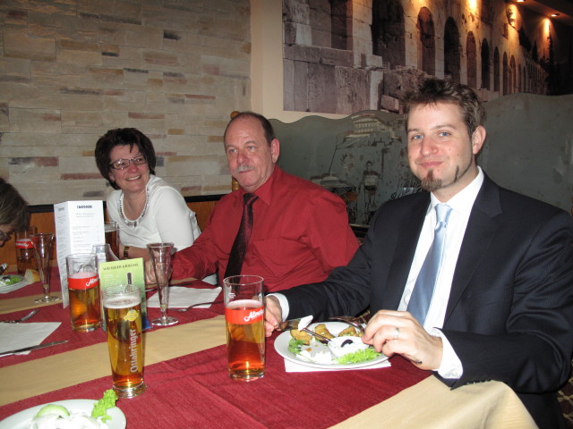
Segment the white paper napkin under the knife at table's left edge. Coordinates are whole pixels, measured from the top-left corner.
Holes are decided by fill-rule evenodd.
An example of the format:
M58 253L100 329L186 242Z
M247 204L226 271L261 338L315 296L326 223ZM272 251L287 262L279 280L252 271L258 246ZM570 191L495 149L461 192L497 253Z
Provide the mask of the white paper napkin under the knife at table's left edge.
M23 349L37 346L47 339L47 336L56 331L61 322L47 322L41 324L0 324L0 353L5 351ZM21 355L27 355L24 351Z

